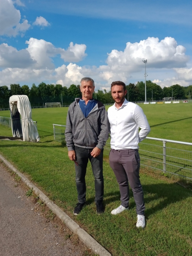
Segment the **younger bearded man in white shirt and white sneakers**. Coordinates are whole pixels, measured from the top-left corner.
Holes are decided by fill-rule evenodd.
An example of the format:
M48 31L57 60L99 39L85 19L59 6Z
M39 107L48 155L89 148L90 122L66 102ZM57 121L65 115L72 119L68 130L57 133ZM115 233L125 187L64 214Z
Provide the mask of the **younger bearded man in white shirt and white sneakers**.
M136 203L136 227L145 227L145 204L140 183L140 156L138 143L150 132L143 110L125 99L126 86L121 81L111 84L111 95L115 104L108 108L110 123L111 151L109 163L119 183L121 205L111 211L118 214L129 209L129 184ZM139 127L141 128L140 132ZM129 184L128 184L129 182Z

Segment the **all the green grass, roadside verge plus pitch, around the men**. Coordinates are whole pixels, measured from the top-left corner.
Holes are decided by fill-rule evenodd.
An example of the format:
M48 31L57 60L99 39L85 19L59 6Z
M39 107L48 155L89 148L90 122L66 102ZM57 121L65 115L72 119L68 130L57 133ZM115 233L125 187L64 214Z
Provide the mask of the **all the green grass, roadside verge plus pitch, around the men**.
M108 107L108 106L107 106ZM192 142L192 104L141 105L151 126L150 137ZM0 140L0 153L40 187L81 227L115 256L192 255L192 191L156 172L141 170L147 225L135 227L135 203L129 211L112 216L120 194L108 161L104 161L105 213L96 214L94 179L88 164L87 206L76 217L73 207L77 193L74 163L67 148L53 140L52 124L65 124L67 108L33 109L41 143ZM8 111L0 116L10 117ZM11 136L11 129L0 126L0 135Z

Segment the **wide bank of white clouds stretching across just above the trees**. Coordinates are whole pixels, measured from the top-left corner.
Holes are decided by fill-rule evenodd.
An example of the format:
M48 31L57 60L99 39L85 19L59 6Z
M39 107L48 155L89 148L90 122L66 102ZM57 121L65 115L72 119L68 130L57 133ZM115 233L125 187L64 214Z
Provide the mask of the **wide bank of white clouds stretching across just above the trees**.
M81 67L73 63L86 56L85 44L71 42L66 50L43 39L30 38L26 44L27 48L20 51L7 44L0 45L0 66L5 68L0 72L0 85L51 81L69 86L79 84L84 76L90 76L97 88L108 88L112 81L121 80L128 84L130 80L143 80L144 59L148 60L148 79L162 87L177 83L186 86L192 81L192 68L186 68L189 57L185 55L185 48L177 45L172 37L161 41L148 37L139 43L128 42L124 51L108 53L106 65L99 67ZM52 58L58 54L70 63L55 68Z

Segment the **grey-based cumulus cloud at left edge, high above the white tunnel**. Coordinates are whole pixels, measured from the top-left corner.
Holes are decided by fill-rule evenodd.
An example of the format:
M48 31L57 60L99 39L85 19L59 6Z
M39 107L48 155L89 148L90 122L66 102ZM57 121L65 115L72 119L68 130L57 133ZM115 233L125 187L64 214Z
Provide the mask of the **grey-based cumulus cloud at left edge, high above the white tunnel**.
M56 48L52 43L43 39L30 38L26 41L28 47L18 51L8 44L0 44L0 67L2 68L27 68L52 69L55 65L52 57L60 54L61 59L69 62L78 62L86 56L85 44L69 44L67 50ZM74 64L75 65L75 64Z

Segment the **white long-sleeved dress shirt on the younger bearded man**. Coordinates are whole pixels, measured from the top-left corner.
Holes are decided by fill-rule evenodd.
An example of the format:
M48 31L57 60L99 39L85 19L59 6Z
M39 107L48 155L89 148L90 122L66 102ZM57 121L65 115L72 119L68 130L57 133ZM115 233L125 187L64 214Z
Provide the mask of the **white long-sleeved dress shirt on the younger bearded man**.
M112 149L138 149L138 143L150 132L150 126L142 108L126 99L119 109L116 108L116 103L108 108L108 120Z

